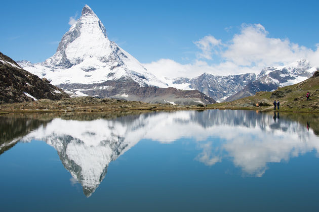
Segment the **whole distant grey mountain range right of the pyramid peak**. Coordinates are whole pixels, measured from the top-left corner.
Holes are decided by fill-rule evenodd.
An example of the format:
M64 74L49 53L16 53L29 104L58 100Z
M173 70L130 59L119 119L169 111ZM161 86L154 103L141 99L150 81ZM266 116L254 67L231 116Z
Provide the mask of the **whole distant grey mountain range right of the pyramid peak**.
M287 66L265 67L258 76L254 73L228 76L204 73L195 78L175 78L173 84L183 85L184 89L197 89L219 102L232 101L257 91L271 91L301 82L311 77L315 70L302 59Z

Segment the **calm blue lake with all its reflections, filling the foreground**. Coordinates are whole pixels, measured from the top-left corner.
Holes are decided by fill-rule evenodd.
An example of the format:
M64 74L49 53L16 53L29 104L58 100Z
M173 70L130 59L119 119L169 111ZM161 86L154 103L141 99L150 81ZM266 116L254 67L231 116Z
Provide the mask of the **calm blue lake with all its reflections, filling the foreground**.
M0 116L1 211L319 211L319 115Z

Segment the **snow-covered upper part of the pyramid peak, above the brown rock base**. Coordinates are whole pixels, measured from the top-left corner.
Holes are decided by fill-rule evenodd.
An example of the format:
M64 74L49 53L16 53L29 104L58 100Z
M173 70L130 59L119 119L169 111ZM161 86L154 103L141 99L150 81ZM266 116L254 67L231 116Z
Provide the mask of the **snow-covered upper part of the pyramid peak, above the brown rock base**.
M140 86L167 87L133 56L108 39L105 27L89 6L66 32L56 53L43 63L19 62L20 66L54 85L93 84L131 79Z

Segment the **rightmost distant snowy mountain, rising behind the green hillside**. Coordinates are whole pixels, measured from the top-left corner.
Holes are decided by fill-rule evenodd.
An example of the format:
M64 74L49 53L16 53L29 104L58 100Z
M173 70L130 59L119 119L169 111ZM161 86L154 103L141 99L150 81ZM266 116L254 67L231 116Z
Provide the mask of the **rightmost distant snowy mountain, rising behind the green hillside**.
M243 90L230 96L225 101L232 101L255 95L258 91L272 91L278 87L302 82L313 75L316 68L305 60L299 60L287 66L265 67L255 81L248 83Z

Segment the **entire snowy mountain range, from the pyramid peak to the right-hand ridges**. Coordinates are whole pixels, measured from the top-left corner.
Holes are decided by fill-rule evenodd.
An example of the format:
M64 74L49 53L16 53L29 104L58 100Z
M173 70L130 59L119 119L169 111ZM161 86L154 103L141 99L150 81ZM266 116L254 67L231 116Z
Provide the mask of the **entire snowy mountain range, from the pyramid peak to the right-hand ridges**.
M271 91L310 77L308 61L265 67L254 73L160 80L133 56L107 38L105 27L89 6L66 32L56 53L43 63L18 61L25 70L65 89L71 96L90 95L151 103L196 104L230 101ZM173 82L170 83L170 82ZM168 88L171 85L184 90ZM197 91L198 90L198 91ZM204 94L203 94L204 93Z

